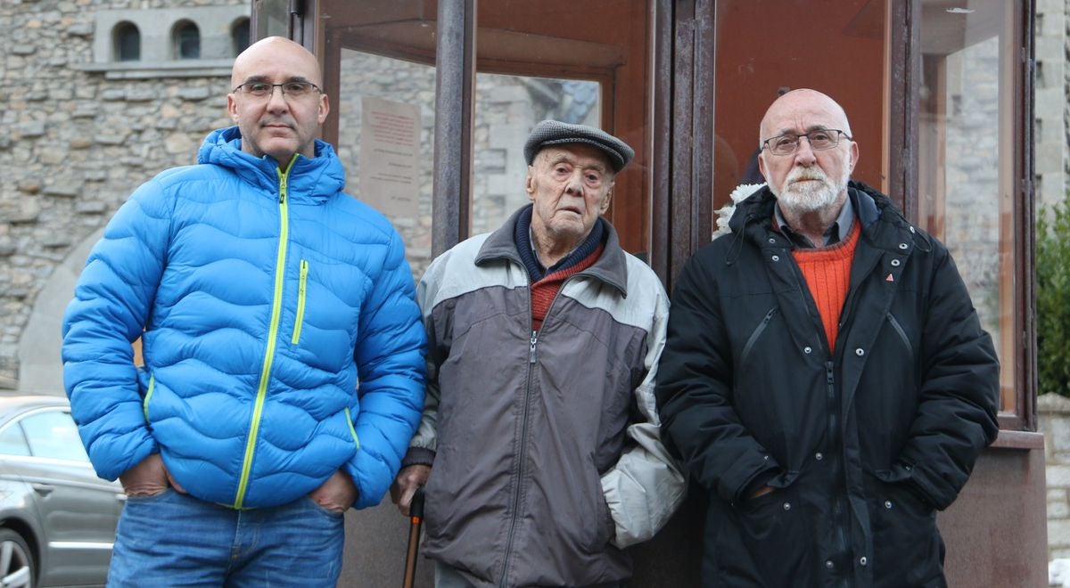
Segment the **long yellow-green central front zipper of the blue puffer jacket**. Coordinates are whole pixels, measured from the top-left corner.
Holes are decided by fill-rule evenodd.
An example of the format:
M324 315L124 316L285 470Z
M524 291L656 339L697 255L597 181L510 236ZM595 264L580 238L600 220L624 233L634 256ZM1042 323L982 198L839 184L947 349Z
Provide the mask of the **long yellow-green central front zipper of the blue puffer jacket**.
M286 278L286 248L290 238L290 215L286 202L287 180L290 169L297 159L297 154L290 158L286 169L278 169L278 211L279 233L278 253L275 258L275 293L271 310L271 327L268 329L268 347L264 350L263 366L260 368L260 385L257 387L257 400L253 405L253 418L249 420L249 433L245 440L245 459L242 462L242 477L238 481L238 493L234 496L234 508L240 509L245 502L245 493L249 486L249 471L253 469L253 457L256 452L257 435L260 432L260 418L263 414L264 397L268 396L268 383L271 378L271 368L275 360L275 339L278 337L279 315L282 311L282 282Z

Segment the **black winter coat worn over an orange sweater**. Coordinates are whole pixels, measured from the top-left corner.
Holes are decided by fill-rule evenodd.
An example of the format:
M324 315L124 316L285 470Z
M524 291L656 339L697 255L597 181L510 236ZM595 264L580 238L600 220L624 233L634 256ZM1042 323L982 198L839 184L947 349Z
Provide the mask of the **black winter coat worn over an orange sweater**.
M946 584L935 510L995 439L999 367L947 249L849 192L862 232L834 353L766 188L676 282L657 399L708 494L705 586Z

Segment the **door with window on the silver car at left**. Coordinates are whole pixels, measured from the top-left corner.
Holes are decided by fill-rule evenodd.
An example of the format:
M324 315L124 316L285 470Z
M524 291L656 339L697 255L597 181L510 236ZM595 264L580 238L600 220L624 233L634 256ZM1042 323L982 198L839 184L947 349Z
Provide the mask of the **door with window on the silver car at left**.
M45 529L49 564L42 584L103 583L125 500L122 486L96 477L68 409L40 409L19 424L31 452L21 475Z

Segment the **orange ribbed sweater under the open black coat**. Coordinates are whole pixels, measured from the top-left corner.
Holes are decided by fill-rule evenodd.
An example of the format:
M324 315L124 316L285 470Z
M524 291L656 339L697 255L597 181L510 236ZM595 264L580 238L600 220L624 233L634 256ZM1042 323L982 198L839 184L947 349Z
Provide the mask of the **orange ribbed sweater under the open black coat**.
M825 325L829 353L836 349L840 312L851 285L851 262L858 245L858 220L855 219L845 241L822 249L794 249L792 257L802 270L810 295L817 304L821 322Z

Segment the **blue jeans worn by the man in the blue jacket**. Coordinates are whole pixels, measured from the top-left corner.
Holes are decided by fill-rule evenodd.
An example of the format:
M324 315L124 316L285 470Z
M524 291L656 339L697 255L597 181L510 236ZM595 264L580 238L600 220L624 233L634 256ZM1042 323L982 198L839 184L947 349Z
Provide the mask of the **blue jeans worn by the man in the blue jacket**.
M342 515L303 497L233 510L168 489L123 507L109 587L335 586Z

